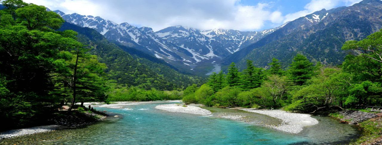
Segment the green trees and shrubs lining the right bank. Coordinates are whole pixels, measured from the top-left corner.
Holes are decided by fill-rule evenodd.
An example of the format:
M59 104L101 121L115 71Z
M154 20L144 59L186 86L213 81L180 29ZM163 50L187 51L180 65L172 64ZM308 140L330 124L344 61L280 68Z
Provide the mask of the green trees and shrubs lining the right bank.
M350 54L340 66L311 63L297 54L283 70L273 58L269 69L247 60L239 72L231 63L228 73L214 73L201 87L186 88L183 101L207 106L283 108L314 113L329 108L382 105L382 32L361 41L348 41L342 50Z

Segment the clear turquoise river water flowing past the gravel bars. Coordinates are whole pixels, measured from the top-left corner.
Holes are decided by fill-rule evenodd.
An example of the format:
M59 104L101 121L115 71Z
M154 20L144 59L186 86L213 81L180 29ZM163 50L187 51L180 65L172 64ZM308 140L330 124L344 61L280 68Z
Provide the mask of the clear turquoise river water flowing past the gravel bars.
M112 116L96 124L76 129L55 130L0 140L0 144L44 145L289 145L346 144L358 137L356 127L329 117L313 116L319 124L290 134L248 122L169 113L148 103L126 108L96 108ZM118 115L119 117L113 117ZM262 118L264 119L264 118Z

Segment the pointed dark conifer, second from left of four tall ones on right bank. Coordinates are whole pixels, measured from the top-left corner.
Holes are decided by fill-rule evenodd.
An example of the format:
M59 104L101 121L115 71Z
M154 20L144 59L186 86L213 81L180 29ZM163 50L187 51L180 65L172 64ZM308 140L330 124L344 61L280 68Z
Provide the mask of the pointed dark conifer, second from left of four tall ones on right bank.
M247 60L247 68L243 70L243 88L253 89L259 87L263 81L264 73L262 68L253 66L253 61Z

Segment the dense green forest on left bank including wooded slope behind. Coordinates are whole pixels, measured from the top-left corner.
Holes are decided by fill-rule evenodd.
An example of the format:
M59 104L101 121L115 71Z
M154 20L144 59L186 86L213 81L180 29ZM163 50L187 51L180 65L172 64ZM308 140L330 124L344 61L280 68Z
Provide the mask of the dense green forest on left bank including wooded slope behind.
M183 88L203 81L141 58L142 52L131 56L44 6L22 0L2 4L0 117L9 124L3 129L38 124L60 106L71 111L78 102L180 99Z

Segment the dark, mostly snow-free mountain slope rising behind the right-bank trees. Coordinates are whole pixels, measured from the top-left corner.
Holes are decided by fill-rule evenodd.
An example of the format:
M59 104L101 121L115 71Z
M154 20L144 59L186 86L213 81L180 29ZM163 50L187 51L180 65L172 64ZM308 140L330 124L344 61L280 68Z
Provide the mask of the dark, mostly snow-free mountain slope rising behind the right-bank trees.
M245 60L249 59L254 60L257 66L264 67L273 57L281 60L286 66L296 53L302 53L312 61L334 65L341 64L346 55L341 50L345 41L363 39L382 28L382 1L380 0L364 0L353 6L318 12L324 12L327 15L320 18L317 23L306 19L306 17L314 15L296 19L264 37L265 40L259 40L259 42L243 49L248 55L239 59L236 58L235 61L238 62L238 66L243 69ZM306 26L306 23L297 23L303 19L309 21L311 25ZM291 31L288 32L286 30L288 25L295 23L297 24L296 29L290 29ZM298 29L299 27L305 28ZM270 42L265 43L265 41Z

